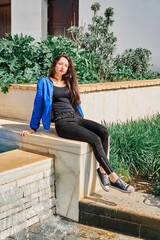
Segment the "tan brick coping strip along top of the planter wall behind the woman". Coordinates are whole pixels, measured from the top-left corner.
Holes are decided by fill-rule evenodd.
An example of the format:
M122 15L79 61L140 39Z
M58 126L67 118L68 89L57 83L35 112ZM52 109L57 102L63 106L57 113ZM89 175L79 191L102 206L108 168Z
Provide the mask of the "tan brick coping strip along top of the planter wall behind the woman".
M149 87L160 85L160 79L149 80L132 80L121 82L105 82L105 83L92 83L92 84L80 84L80 93L96 92L105 90ZM13 84L11 89L31 90L36 91L36 84Z

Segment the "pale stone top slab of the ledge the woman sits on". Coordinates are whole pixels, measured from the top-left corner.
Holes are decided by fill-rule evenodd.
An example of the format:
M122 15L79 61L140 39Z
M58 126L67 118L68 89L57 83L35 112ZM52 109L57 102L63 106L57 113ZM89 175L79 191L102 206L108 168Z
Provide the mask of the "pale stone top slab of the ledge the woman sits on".
M22 137L20 132L27 129L29 129L28 123L10 118L0 118L0 140L2 138L4 144L4 139L6 139L6 143L7 141L12 141L17 143L19 147L27 150L28 145L30 145L30 150L36 150L48 156L52 156L50 151L53 148L58 151L78 155L91 152L91 148L86 142L58 137L53 124L49 131L44 130L40 126L36 133Z

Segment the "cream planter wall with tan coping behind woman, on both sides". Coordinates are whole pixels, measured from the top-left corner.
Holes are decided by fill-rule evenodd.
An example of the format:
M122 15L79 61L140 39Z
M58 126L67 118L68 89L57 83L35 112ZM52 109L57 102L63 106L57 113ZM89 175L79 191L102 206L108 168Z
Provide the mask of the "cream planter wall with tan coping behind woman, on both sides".
M124 122L160 112L160 79L79 85L85 118L97 122ZM36 84L12 85L0 92L0 116L29 123Z

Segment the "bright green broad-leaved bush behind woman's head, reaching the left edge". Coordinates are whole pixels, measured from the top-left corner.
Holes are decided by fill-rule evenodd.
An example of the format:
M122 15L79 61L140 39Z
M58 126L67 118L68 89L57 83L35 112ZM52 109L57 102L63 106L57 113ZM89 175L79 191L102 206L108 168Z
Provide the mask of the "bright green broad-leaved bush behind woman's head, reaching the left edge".
M34 38L22 34L13 37L6 34L6 37L0 39L0 87L4 93L13 83L37 83L38 79L48 75L51 62L60 54L72 58L79 83L99 82L93 56L77 49L68 38L49 36L35 43Z

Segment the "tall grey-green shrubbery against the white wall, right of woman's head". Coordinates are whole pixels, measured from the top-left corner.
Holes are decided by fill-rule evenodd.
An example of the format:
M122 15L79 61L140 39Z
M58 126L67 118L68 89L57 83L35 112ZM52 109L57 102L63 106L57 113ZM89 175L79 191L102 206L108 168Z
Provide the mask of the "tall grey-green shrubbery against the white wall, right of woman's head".
M94 56L96 72L105 81L159 78L160 74L150 72L151 52L145 48L128 49L114 56L117 38L110 31L113 25L114 11L109 7L103 16L98 16L100 4L91 6L94 12L92 24L84 27L72 26L68 29L77 47L84 48Z

